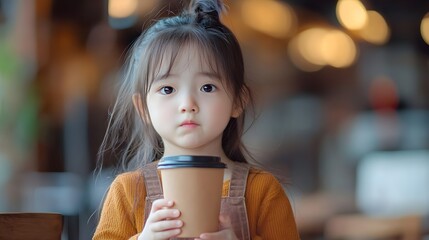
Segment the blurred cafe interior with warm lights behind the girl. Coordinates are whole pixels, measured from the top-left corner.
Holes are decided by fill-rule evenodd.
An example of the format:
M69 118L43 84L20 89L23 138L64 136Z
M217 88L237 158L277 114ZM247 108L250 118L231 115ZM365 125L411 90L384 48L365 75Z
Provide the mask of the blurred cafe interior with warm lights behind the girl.
M186 3L0 0L0 212L60 212L63 239L91 238L127 49ZM254 90L244 141L285 179L302 239L429 214L429 1L225 3Z

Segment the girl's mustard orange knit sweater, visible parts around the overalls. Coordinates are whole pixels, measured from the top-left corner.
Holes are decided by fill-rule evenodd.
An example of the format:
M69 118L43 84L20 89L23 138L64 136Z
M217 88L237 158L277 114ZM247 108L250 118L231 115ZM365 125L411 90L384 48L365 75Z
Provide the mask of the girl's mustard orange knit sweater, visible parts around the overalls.
M121 174L113 181L94 240L137 239L144 224L146 190L142 179L141 172L134 171ZM229 181L224 183L223 196L228 195L228 190ZM273 175L251 169L245 198L253 240L299 239L290 202Z

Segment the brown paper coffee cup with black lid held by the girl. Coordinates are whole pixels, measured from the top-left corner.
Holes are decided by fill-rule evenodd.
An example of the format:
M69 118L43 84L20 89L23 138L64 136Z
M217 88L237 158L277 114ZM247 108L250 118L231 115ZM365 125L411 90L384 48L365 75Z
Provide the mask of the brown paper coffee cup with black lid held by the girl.
M215 156L168 156L159 161L164 198L175 202L184 222L178 237L219 231L225 167Z

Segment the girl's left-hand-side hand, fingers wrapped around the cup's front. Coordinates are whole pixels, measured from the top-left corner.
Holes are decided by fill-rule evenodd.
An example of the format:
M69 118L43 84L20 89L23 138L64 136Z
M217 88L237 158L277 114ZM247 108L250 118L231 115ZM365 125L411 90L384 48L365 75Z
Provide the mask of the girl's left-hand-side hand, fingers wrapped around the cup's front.
M166 240L179 235L183 222L177 219L180 216L180 211L171 208L173 205L173 201L166 199L155 200L138 239Z

